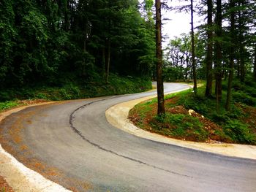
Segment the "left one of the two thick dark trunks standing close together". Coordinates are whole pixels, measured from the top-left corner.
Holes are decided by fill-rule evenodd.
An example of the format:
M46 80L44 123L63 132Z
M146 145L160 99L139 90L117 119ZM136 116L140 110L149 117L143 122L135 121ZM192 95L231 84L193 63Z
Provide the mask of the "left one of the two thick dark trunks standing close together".
M206 57L206 93L205 95L211 96L212 93L212 53L213 53L213 22L212 22L212 0L207 1L207 57Z

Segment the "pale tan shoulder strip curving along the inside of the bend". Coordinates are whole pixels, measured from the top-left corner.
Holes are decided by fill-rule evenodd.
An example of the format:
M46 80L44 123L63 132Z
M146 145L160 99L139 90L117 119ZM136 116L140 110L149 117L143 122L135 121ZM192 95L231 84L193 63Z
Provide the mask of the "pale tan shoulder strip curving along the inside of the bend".
M151 139L157 142L164 142L171 145L192 148L195 150L203 150L210 153L217 153L219 155L256 159L256 146L254 145L188 142L144 131L133 125L128 119L129 110L131 110L133 107L135 107L136 104L140 103L141 101L146 101L154 97L155 96L149 96L143 99L135 99L121 104L116 104L115 106L110 107L106 111L106 118L113 126L116 126L123 131L127 131L129 134L134 134L138 137L143 137L145 139Z

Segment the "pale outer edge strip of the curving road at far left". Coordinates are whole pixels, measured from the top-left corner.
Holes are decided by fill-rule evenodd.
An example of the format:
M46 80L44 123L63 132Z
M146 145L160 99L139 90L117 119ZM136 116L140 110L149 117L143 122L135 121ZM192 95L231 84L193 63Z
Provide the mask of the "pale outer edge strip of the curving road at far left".
M42 102L39 104L31 104L23 107L17 107L12 110L0 113L0 122L4 120L7 116L14 112L19 112L28 107L34 107L42 104L52 104L55 101ZM69 192L63 186L54 183L43 177L38 172L21 164L17 159L15 159L10 153L7 153L0 144L0 175L4 177L14 191L28 191L28 192L48 192L48 191L58 191L58 192Z

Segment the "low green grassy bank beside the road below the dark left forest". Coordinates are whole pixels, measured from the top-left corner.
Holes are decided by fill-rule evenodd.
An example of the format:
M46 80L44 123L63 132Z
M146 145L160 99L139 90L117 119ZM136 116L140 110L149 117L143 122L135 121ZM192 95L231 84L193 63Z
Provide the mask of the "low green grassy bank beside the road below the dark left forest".
M23 105L20 100L62 101L84 99L97 96L109 96L127 93L138 93L150 90L151 80L139 77L119 77L110 74L109 82L103 77L78 82L66 80L59 86L37 85L34 87L10 88L0 91L0 112Z

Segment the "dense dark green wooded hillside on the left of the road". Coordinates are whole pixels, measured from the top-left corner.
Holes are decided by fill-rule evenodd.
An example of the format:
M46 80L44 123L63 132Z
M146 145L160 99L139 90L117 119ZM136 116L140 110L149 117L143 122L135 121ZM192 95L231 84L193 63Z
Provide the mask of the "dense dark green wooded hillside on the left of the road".
M151 88L154 21L139 9L137 0L1 1L1 101L40 97L50 88L89 89L88 96L100 95L90 95L92 87L113 89L101 95ZM118 91L119 77L138 88Z

